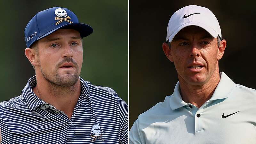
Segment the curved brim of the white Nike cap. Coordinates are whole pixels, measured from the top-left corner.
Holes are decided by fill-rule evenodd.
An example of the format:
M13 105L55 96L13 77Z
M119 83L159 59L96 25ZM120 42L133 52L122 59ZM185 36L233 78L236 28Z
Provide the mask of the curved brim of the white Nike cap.
M212 37L216 38L218 37L218 33L212 29L211 27L203 24L203 23L200 23L200 22L189 22L189 23L186 23L182 26L180 26L179 28L177 28L173 33L172 35L168 38L169 42L171 43L174 36L176 36L176 34L182 29L182 28L185 28L185 27L188 27L188 26L198 26L200 28L204 28L204 30L206 30L210 35L212 35ZM166 40L167 41L167 40Z

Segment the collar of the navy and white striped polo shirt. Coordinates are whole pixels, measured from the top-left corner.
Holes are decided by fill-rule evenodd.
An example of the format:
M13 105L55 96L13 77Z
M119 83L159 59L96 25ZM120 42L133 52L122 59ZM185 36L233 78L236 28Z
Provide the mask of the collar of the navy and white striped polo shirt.
M81 77L80 82L81 82L81 95L82 96L88 96L90 95L90 91L87 85L87 82L84 81ZM29 110L35 110L38 106L45 104L43 100L38 98L36 94L33 92L33 88L36 86L36 76L31 77L28 80L28 83L26 84L25 88L22 90L22 95L25 98Z

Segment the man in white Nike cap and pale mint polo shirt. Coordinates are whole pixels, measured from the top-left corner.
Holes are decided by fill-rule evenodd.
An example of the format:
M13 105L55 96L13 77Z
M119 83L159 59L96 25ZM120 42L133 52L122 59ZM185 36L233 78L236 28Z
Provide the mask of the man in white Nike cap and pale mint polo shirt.
M219 73L227 42L215 15L201 6L181 8L169 21L166 41L163 51L179 82L134 122L130 144L256 143L256 90Z

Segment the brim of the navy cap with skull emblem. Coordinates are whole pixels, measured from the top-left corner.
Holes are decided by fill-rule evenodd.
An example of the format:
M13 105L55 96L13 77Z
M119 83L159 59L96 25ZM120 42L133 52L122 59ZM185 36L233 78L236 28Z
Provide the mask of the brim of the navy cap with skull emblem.
M93 32L92 27L87 25L87 24L84 24L84 23L69 23L69 24L63 25L59 28L56 28L56 29L53 29L53 30L49 31L48 33L44 34L43 36L40 36L39 38L37 38L36 41L41 39L41 38L44 38L45 36L50 35L51 33L55 32L56 30L59 30L59 29L75 29L80 33L80 36L82 38L91 35L92 32Z

